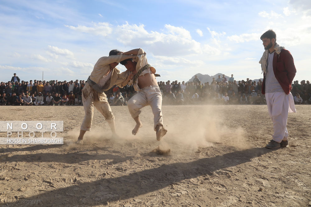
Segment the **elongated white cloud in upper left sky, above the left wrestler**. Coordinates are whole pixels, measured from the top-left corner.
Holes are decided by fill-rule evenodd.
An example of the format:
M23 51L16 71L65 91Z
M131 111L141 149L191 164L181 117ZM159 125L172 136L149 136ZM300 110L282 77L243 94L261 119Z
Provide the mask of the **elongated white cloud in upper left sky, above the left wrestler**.
M112 25L110 25L108 22L93 23L93 27L86 27L81 25L78 25L77 27L69 25L65 26L79 32L101 35L104 37L107 37L112 33Z

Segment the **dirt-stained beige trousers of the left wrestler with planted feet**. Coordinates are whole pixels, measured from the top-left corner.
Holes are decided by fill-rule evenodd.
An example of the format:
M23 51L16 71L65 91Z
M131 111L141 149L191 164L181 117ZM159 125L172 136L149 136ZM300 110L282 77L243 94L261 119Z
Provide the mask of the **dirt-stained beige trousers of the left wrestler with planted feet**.
M107 101L105 93L98 93L88 83L82 89L82 103L85 116L81 125L81 130L91 131L91 125L95 108L105 117L106 121L114 120L114 115Z

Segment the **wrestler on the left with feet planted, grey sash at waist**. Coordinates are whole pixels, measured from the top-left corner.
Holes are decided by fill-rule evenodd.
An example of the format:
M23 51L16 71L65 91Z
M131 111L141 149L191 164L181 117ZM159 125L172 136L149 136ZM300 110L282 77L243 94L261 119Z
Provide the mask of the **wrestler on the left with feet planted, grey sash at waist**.
M105 117L115 137L116 129L114 115L111 111L107 96L104 91L112 88L114 85L119 87L126 86L133 75L128 71L120 74L116 68L120 61L133 57L132 55L117 55L118 50L111 50L108 57L101 57L95 64L94 69L87 79L82 89L82 103L85 110L85 116L80 128L80 135L76 144L83 144L83 136L86 131L91 131L93 111L95 108Z

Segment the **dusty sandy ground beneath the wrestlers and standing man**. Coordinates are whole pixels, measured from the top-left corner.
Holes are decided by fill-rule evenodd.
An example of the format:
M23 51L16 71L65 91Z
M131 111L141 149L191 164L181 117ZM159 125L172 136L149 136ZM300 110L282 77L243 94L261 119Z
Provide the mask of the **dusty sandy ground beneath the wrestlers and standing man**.
M163 106L160 142L150 107L136 136L127 107L112 107L116 139L95 110L83 146L0 146L0 206L311 206L311 105L296 109L278 150L264 148L273 132L265 105ZM0 111L1 120L63 120L66 143L84 117L82 106Z

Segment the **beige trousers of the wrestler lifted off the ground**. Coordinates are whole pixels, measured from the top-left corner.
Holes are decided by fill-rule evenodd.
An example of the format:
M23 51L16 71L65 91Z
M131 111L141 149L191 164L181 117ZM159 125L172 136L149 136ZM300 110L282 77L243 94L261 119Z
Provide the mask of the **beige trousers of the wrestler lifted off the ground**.
M156 131L157 125L163 126L162 94L159 86L145 87L128 100L128 110L132 118L137 117L142 112L140 109L148 105L151 106L154 115L154 130Z

